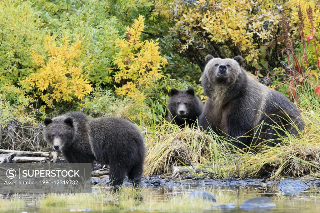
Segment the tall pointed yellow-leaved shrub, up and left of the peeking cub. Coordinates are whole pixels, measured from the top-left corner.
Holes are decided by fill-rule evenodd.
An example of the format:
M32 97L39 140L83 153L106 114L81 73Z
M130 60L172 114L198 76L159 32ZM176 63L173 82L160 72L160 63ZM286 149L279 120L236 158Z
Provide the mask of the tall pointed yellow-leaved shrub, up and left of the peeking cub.
M141 41L141 32L145 28L144 20L140 15L126 28L126 37L117 43L120 51L114 57L114 63L119 71L114 80L122 85L116 88L119 95L133 97L136 93L143 94L143 90L138 89L153 87L156 81L163 77L161 67L168 63L160 54L159 43L152 40Z

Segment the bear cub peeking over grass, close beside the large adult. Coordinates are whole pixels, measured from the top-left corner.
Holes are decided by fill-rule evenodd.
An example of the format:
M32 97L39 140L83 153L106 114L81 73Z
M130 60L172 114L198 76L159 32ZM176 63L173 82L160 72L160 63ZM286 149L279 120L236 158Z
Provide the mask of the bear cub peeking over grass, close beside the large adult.
M168 100L167 120L181 128L184 128L186 123L189 127L197 126L195 122L202 112L203 105L193 88L179 91L172 88Z

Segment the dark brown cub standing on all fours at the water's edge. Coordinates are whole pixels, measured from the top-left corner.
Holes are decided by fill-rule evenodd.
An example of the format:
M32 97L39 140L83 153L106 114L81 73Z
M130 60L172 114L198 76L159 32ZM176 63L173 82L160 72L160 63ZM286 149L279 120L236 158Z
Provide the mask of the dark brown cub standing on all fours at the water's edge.
M99 163L110 166L111 185L122 185L127 175L141 184L145 144L140 130L115 117L89 118L71 112L44 119L44 139L62 151L68 163Z

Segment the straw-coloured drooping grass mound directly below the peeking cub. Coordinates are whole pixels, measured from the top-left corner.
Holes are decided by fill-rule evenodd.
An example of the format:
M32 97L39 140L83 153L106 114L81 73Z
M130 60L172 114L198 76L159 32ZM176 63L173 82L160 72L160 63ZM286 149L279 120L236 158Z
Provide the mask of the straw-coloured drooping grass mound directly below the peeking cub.
M207 162L212 155L210 147L214 139L199 129L180 129L163 122L156 134L147 136L148 151L146 154L145 175L167 174L172 172L172 165L199 165ZM220 147L216 146L219 149Z

